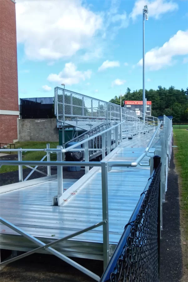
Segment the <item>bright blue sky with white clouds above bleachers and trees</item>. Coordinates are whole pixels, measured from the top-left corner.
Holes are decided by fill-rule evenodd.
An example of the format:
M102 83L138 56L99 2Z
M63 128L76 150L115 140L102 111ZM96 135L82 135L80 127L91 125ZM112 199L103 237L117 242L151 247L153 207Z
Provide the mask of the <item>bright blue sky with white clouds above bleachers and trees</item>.
M108 101L145 86L188 86L186 0L17 0L19 98L52 97L54 87Z

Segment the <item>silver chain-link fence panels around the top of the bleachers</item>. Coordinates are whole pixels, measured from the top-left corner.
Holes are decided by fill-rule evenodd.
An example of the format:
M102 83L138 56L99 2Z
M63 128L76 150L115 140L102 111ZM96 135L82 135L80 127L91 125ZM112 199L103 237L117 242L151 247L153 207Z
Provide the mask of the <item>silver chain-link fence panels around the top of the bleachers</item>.
M59 87L55 88L55 101L58 121L78 128L89 130L105 121L120 122L122 119L120 106ZM126 113L136 116L133 111Z

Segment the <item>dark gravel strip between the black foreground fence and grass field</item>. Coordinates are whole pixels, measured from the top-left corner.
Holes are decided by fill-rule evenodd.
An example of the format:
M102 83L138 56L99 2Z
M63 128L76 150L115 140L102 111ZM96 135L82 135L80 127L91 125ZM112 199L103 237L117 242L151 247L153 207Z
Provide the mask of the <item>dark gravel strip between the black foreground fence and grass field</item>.
M180 233L180 203L178 175L174 154L170 161L167 192L163 204L163 231L160 245L160 281L180 281L182 277L182 251Z

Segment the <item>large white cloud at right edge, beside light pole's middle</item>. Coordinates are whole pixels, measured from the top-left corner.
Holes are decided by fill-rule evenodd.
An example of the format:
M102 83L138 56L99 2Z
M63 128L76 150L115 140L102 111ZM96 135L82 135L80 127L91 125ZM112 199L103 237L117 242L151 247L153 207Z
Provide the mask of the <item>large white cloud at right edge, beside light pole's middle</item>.
M178 30L162 47L153 48L145 54L145 65L150 70L160 70L172 65L174 56L186 54L188 54L188 30ZM139 60L138 65L143 65L143 59Z

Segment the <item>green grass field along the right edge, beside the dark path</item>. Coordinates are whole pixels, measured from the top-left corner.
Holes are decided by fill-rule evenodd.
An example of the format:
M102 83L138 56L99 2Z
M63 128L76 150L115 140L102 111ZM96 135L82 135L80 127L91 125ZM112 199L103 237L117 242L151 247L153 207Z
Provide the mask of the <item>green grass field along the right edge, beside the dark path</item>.
M186 129L173 129L175 162L180 175L180 208L185 221L186 239L188 239L188 131Z

